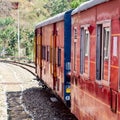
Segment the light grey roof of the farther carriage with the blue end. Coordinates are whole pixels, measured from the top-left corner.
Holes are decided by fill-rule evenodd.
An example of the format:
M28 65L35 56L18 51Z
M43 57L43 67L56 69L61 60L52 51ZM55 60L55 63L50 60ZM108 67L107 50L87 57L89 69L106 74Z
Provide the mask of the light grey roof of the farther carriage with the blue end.
M62 12L62 13L59 13L53 17L50 17L42 22L39 22L35 28L39 28L39 27L42 27L42 26L45 26L45 25L49 25L49 24L52 24L52 23L56 23L56 22L59 22L59 21L62 21L64 20L64 14L66 12Z

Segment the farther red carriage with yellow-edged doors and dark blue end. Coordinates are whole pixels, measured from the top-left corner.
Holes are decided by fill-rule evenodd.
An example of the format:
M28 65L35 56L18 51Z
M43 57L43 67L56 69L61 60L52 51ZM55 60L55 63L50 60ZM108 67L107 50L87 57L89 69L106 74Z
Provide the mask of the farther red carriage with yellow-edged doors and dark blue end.
M36 26L36 72L70 106L71 11Z

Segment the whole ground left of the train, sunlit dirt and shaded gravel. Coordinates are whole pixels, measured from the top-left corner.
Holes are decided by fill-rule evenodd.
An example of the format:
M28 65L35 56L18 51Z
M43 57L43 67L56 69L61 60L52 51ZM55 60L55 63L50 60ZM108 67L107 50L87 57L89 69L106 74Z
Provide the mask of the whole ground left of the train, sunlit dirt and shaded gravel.
M77 120L25 69L0 62L0 120Z

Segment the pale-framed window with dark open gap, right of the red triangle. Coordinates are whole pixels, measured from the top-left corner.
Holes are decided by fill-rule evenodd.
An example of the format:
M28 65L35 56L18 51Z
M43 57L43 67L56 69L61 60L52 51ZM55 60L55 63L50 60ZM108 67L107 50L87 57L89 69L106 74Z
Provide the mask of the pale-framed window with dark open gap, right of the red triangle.
M97 25L96 79L110 81L110 22Z

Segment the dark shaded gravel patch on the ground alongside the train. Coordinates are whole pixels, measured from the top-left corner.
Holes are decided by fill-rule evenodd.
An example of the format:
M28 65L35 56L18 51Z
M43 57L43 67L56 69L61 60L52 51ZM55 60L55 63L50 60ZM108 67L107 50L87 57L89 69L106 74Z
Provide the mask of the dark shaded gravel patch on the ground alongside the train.
M51 98L56 100L51 101ZM23 91L22 100L34 120L77 120L48 88L27 89Z

